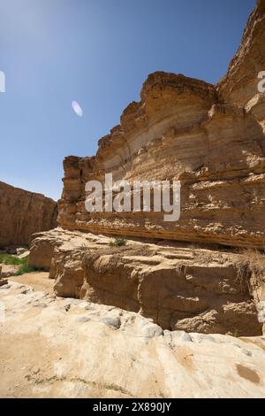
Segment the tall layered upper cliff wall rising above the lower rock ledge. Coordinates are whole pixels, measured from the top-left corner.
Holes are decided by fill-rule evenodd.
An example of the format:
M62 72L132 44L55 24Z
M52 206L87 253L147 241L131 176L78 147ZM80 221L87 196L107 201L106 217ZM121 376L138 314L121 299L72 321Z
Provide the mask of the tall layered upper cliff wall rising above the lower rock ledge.
M64 160L58 224L93 233L263 247L265 238L265 12L259 2L239 52L217 86L153 73L121 124L93 158ZM87 181L181 182L181 217L163 213L88 213Z

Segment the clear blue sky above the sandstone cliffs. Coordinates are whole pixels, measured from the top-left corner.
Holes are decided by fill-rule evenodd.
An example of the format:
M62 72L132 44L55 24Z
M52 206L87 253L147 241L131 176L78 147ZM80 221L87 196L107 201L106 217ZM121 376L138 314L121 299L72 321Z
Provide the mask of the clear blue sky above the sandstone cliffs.
M148 73L218 81L254 4L0 0L0 181L60 197L64 157L95 154Z

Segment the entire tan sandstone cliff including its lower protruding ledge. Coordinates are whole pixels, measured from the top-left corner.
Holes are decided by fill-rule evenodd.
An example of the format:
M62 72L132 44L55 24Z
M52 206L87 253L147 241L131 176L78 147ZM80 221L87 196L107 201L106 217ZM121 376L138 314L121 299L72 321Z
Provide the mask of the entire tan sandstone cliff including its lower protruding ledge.
M29 258L49 270L57 296L139 312L163 329L261 335L265 260L239 247L263 249L265 241L265 112L257 95L264 22L259 1L216 86L153 73L95 157L65 158L61 227L35 235ZM130 183L180 181L180 220L88 213L85 185L105 173ZM128 245L110 248L109 235L124 235Z

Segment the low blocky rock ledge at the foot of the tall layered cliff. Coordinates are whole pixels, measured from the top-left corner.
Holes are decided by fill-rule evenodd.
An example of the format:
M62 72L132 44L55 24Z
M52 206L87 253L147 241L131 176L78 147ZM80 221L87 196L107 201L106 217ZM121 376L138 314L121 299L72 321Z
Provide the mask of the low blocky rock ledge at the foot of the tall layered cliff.
M59 297L140 312L163 329L262 333L239 254L133 241L113 248L105 236L55 229L36 236L30 266L42 255Z

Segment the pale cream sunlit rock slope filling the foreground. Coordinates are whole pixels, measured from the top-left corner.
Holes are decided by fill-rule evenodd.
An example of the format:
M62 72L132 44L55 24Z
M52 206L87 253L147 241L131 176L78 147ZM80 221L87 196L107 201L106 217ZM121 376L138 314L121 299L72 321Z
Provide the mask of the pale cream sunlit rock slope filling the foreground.
M0 308L0 397L265 396L264 337L163 331L13 282Z

